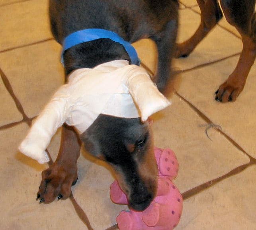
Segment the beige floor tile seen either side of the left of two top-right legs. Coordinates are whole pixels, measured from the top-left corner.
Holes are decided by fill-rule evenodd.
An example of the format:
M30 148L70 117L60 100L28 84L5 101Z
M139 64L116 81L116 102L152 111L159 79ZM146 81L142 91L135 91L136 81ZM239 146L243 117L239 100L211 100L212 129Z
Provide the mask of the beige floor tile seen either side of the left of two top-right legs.
M180 11L178 42L183 42L195 33L200 23L200 15L191 10ZM220 27L211 33L195 48L188 58L174 60L179 69L190 69L194 66L209 63L242 51L242 41Z

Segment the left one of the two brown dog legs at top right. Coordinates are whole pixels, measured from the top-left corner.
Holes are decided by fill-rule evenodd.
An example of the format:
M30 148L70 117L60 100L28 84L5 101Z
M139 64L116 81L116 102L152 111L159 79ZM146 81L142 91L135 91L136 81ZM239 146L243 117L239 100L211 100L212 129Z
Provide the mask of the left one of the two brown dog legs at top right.
M190 39L176 45L176 58L187 57L223 17L217 0L197 0L197 3L201 10L201 23Z

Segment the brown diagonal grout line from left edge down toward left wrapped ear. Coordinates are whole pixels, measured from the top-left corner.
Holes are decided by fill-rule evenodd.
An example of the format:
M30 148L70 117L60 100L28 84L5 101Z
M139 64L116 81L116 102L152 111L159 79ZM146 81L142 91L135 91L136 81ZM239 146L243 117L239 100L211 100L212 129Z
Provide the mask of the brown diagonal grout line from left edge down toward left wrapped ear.
M23 116L23 120L28 124L31 125L31 121L32 119L30 119L29 117L27 117L27 115L25 114L23 107L20 103L20 101L18 100L18 98L16 97L16 95L14 94L14 91L12 89L12 86L10 84L10 81L8 80L8 78L6 77L6 75L4 74L4 72L2 71L2 69L0 68L0 75L2 77L2 81L4 82L4 86L6 87L6 89L8 90L9 94L11 95L12 99L14 100L14 103L18 109L18 111L21 113L21 115Z

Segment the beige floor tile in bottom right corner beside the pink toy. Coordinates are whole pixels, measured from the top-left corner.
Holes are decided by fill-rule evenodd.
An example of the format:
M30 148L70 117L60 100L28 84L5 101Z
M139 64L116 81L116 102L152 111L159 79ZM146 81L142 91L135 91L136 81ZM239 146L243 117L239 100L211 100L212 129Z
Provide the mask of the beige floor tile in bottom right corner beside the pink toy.
M177 230L256 229L256 166L185 200Z

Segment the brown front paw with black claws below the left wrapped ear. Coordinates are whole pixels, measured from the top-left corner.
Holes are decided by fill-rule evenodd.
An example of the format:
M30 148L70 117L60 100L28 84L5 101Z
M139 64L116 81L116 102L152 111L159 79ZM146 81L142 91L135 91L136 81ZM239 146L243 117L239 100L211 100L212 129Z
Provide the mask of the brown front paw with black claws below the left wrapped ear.
M42 181L37 192L39 203L51 203L56 197L66 199L71 194L71 186L77 182L76 165L53 164L42 172Z

